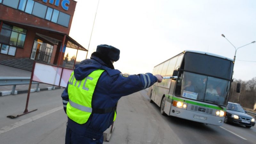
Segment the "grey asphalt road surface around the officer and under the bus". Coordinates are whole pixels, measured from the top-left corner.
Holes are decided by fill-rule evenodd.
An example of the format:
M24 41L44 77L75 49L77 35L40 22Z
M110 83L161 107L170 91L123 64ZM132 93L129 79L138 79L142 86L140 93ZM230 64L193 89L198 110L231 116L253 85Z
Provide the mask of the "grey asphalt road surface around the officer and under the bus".
M34 92L28 110L35 112L9 119L24 111L27 94L0 97L0 143L65 143L67 116L62 109L63 91ZM149 103L146 91L119 100L115 129L104 144L255 144L256 128L224 124L222 127L162 116L156 104Z

